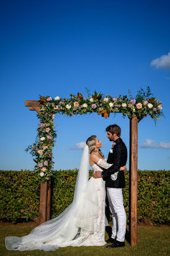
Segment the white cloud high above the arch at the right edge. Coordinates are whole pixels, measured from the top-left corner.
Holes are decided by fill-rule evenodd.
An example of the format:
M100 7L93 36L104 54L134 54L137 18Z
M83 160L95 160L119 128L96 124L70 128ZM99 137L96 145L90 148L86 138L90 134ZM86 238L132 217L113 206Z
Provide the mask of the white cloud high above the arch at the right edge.
M151 66L157 69L170 70L170 52L168 55L163 55L151 61Z

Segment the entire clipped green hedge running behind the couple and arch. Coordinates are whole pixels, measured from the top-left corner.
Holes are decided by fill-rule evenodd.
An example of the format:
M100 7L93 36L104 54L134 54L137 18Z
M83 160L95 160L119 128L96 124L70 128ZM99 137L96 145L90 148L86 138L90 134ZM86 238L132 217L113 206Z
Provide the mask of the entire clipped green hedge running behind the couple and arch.
M58 216L73 200L78 170L54 171L51 178L51 218ZM90 171L90 175L92 171ZM138 222L168 224L169 171L138 171ZM125 211L129 211L128 179L123 190ZM40 184L34 171L0 171L0 219L37 221Z

